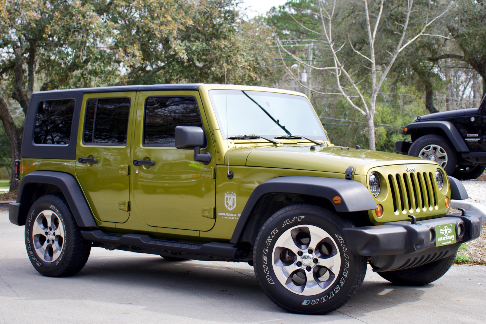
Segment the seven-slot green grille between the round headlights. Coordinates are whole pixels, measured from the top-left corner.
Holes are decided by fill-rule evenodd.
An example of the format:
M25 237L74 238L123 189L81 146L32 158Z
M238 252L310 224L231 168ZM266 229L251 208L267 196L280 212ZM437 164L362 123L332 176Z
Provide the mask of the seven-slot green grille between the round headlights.
M388 175L395 212L413 210L417 213L437 206L435 176L432 172L397 173Z

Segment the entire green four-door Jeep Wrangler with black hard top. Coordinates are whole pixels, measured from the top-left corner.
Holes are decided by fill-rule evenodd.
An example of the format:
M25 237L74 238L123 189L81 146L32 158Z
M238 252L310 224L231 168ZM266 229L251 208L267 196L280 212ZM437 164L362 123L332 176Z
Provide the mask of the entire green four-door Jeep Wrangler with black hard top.
M419 286L479 236L435 162L339 147L301 93L240 85L37 92L10 221L34 268L68 276L91 247L248 262L279 307L324 314L367 264Z

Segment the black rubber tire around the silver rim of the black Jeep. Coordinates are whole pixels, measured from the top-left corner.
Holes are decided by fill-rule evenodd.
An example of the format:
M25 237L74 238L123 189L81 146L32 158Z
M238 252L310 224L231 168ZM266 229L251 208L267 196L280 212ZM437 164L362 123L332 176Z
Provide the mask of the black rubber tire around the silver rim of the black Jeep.
M421 157L419 156L420 151L430 145L437 145L445 150L445 152L447 153L447 163L445 165L442 165L442 168L444 169L444 171L446 171L448 175L451 175L457 165L457 153L451 142L442 136L424 135L418 137L410 146L410 149L408 150L408 155ZM440 161L436 162L441 164Z

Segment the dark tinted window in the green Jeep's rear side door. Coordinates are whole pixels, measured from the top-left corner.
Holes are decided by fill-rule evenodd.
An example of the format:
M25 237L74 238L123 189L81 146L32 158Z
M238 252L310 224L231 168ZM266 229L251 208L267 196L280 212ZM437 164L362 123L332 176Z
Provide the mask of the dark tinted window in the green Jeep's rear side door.
M90 99L86 106L86 144L126 145L129 98Z

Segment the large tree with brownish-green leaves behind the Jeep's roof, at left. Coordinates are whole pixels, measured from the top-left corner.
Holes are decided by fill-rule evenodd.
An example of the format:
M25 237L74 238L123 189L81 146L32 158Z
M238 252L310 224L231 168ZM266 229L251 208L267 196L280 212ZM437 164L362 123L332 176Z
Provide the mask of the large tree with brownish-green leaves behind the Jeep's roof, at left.
M6 0L0 3L0 120L20 156L34 88L176 82L261 84L270 32L237 0ZM13 168L13 166L12 166ZM12 169L13 170L13 169ZM12 177L11 190L18 182Z

